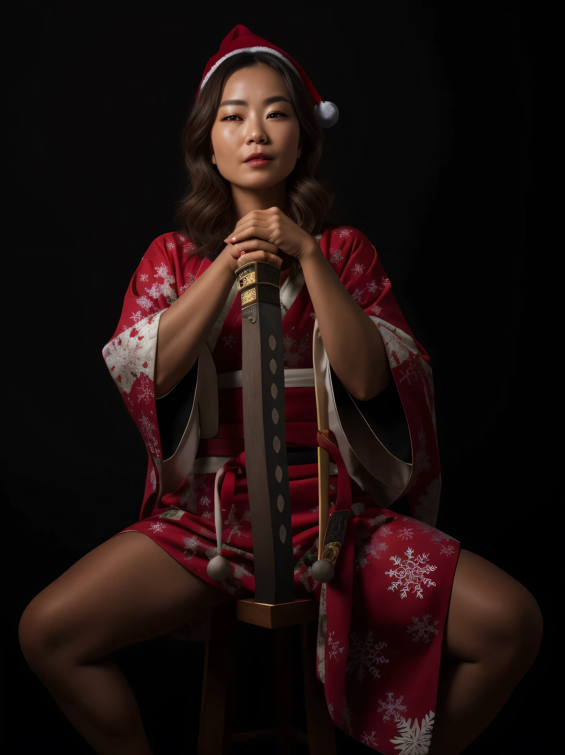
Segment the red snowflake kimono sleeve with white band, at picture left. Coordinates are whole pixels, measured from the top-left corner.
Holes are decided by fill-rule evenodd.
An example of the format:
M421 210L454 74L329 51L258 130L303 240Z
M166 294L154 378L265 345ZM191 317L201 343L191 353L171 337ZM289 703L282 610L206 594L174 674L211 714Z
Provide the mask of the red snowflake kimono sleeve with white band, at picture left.
M173 234L155 239L143 255L124 297L115 334L103 348L106 367L121 393L127 411L143 437L149 455L143 512L158 495L161 439L155 407L155 353L161 314L179 296ZM189 282L194 276L186 273Z

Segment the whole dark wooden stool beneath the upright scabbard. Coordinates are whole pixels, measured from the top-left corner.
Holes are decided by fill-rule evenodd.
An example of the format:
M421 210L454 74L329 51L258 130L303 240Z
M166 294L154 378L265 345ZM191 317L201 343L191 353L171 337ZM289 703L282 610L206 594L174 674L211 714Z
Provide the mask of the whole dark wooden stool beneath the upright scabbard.
M275 688L277 726L273 729L232 733L233 694L229 694L232 677L232 636L235 619L273 630L275 640ZM210 618L210 630L204 657L204 683L198 735L198 755L229 755L232 742L278 737L279 753L285 741L297 739L309 745L310 755L335 755L333 722L327 710L324 686L315 672L318 604L298 599L271 606L253 598L238 600L235 605L220 606ZM291 720L290 657L284 630L299 624L302 639L302 672L306 701L307 735L296 729Z

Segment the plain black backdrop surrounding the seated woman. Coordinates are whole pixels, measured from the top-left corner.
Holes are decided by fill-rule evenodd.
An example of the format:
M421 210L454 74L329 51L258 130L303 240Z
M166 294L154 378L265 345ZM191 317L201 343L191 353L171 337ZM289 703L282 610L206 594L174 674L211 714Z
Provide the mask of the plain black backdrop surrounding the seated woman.
M296 57L339 106L323 159L334 217L373 240L431 356L438 526L542 608L536 663L465 752L534 753L540 737L554 741L559 371L548 364L559 348L542 212L542 21L551 23L517 4L287 2L29 5L8 23L5 752L92 752L26 667L17 621L39 590L137 519L146 452L100 352L143 252L177 228L180 131L236 23ZM201 646L155 639L118 656L155 755L195 751ZM254 725L253 707L241 706L242 728ZM345 735L338 743L369 752Z

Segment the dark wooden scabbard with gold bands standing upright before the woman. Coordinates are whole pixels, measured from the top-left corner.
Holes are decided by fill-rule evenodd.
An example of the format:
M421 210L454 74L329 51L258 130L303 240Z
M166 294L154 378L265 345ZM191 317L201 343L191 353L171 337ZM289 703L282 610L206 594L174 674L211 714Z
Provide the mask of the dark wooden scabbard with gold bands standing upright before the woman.
M263 262L238 273L255 600L273 605L294 600L279 278L278 267Z

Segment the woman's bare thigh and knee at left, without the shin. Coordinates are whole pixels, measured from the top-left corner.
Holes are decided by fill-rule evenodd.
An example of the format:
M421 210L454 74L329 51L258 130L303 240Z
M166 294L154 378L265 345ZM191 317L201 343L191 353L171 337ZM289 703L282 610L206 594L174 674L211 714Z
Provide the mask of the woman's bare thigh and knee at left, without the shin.
M140 532L95 548L45 587L23 612L20 642L31 663L88 662L166 634L230 599Z

